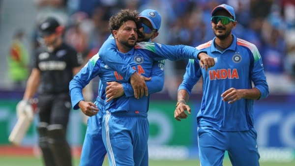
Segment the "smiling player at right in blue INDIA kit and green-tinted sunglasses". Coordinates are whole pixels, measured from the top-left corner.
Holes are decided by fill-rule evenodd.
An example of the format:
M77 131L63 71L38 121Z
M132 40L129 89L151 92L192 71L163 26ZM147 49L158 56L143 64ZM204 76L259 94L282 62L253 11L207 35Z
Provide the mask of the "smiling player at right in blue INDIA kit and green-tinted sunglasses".
M186 118L185 104L203 76L203 98L197 114L199 155L202 166L222 166L228 151L233 166L259 166L254 100L268 96L262 58L257 47L232 34L234 8L221 4L211 12L215 37L197 47L215 59L208 72L190 60L177 94L175 118ZM253 85L252 85L253 83Z

